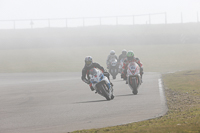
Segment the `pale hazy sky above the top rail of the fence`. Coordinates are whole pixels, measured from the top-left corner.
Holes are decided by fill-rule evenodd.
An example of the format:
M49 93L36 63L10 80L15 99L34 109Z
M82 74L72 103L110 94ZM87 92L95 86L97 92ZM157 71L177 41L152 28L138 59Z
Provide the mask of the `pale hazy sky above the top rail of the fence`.
M200 0L0 0L0 20L138 15L167 12L168 22L197 21Z

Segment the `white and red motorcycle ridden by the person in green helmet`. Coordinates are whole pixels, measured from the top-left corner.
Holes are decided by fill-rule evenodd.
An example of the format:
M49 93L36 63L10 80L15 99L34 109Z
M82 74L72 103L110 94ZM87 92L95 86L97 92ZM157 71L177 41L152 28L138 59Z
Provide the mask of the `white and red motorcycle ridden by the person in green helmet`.
M128 64L127 81L132 93L137 95L138 88L141 85L141 76L140 67L136 62L131 62Z

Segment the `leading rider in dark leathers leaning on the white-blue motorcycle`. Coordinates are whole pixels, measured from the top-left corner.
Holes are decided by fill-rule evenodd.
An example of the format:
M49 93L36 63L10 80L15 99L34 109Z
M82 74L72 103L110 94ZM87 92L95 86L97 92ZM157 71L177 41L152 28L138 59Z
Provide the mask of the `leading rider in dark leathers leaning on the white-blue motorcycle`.
M108 78L109 81L110 81L110 78L109 78L110 74L108 72L105 72L104 68L101 65L99 65L98 63L93 62L91 56L86 56L85 57L85 66L82 69L82 77L81 77L81 79L86 84L89 84L90 89L92 91L94 91L94 88L92 87L92 83L90 83L90 79L89 79L89 70L92 69L92 68L100 69L103 72L103 74ZM111 82L110 82L110 84L111 84L111 86L113 86L113 84Z

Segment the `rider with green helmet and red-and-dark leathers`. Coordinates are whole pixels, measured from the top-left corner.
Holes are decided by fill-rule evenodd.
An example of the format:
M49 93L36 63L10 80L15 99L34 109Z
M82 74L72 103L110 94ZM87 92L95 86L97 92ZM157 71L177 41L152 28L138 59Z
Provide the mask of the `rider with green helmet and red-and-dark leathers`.
M126 76L126 74L127 74L127 66L128 66L128 64L130 62L136 62L139 65L139 67L140 67L141 82L142 82L143 64L142 64L142 62L140 62L139 58L135 58L134 53L133 53L132 50L128 51L127 58L124 59L124 64L123 64L123 67L122 67L123 72L121 74L121 77L124 78L125 80L127 80L127 76ZM127 83L128 82L126 81L126 84Z

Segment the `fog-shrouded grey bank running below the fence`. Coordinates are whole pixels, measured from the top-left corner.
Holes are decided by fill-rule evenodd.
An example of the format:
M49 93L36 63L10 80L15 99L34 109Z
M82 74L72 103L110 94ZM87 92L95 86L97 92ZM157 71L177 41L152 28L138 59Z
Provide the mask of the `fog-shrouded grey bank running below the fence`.
M0 30L0 49L200 43L200 23Z

